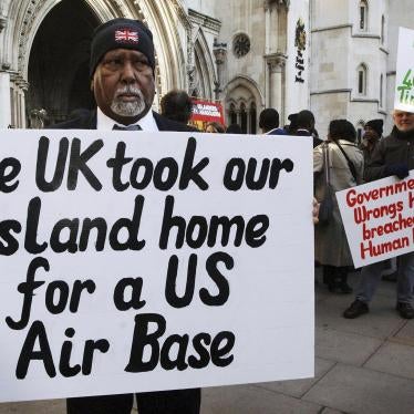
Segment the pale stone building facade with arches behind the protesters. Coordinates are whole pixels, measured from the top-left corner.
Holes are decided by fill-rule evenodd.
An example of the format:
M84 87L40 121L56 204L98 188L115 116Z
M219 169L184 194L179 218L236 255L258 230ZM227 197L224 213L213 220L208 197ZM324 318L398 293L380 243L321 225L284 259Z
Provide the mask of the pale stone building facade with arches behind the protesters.
M391 126L397 27L414 29L412 0L0 0L0 127L41 127L93 106L87 72L94 28L144 20L156 48L155 107L172 89L220 101L227 124L258 131L310 108L329 121Z

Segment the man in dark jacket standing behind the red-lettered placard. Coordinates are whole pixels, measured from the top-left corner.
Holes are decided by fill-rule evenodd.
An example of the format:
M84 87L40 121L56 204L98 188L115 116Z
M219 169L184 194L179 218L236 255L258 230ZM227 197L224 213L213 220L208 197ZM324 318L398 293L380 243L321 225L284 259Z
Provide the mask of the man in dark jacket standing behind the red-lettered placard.
M408 175L414 168L414 110L413 112L394 110L394 128L390 136L382 139L365 169L365 179L375 179L397 176L400 179ZM369 302L381 280L384 261L368 265L362 268L361 281L356 299L348 308L343 317L354 319L369 312ZM396 310L404 319L414 318L411 304L414 287L414 252L399 257L397 269L397 303Z

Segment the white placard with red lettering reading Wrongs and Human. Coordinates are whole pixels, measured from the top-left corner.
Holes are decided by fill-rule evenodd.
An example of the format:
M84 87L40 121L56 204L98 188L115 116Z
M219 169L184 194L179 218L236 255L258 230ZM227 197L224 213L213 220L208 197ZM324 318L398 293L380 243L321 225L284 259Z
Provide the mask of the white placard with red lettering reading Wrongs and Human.
M337 193L355 268L414 250L414 172Z

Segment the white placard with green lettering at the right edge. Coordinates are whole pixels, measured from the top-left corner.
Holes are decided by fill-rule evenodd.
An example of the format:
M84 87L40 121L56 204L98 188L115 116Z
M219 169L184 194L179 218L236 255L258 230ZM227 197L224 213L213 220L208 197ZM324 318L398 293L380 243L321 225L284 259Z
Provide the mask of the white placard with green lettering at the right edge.
M414 112L414 30L400 28L394 108Z

